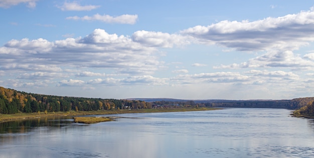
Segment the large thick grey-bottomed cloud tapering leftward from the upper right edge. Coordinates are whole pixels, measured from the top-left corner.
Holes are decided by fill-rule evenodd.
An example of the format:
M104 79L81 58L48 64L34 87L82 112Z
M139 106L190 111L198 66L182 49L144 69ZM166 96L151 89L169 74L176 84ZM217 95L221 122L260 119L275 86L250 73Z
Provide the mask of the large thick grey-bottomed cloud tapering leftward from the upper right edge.
M195 26L181 31L200 43L218 44L241 51L295 50L308 44L314 36L314 12L301 11L281 17L256 21L224 20L208 26Z

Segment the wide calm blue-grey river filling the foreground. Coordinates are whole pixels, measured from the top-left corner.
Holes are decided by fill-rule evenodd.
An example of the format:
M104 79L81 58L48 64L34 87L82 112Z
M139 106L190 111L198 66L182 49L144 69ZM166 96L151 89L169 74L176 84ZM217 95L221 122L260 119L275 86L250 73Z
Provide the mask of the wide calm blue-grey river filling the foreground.
M0 123L0 157L314 157L314 120L290 110L226 108Z

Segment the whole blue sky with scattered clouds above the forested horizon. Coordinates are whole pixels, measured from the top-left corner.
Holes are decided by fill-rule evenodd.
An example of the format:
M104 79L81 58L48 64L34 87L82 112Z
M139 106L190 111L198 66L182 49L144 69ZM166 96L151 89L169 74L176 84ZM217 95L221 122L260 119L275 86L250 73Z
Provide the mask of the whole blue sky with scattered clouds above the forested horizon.
M93 98L314 96L314 2L0 0L0 86Z

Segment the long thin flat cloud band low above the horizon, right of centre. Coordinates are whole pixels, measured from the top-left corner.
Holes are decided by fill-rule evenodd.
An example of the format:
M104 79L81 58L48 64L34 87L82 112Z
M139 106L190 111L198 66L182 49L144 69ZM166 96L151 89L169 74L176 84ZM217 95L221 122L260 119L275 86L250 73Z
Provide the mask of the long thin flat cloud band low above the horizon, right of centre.
M242 74L245 73L245 74ZM211 84L230 83L233 85L261 85L261 84L301 84L299 75L293 72L281 70L249 70L246 72L213 72L180 74L171 78L172 83L177 84Z

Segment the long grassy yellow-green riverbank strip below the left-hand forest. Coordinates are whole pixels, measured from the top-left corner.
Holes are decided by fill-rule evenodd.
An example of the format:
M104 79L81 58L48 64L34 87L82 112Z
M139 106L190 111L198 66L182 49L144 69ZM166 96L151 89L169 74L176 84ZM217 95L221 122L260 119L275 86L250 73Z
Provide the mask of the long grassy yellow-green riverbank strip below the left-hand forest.
M54 116L78 116L78 115L97 115L97 114L119 114L119 113L148 113L148 112L184 112L184 111L203 111L216 110L221 108L151 108L151 109L113 109L113 110L97 110L97 111L74 111L67 112L34 112L34 113L15 113L15 114L0 114L0 122L29 119L36 117L54 117Z

